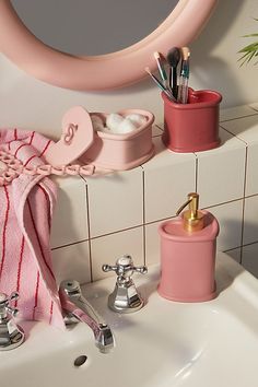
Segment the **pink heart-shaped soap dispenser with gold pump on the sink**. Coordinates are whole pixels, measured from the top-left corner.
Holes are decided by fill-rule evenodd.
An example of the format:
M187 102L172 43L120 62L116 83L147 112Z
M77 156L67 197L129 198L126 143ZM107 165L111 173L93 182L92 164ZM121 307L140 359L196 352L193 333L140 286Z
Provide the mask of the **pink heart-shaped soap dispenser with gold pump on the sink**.
M189 204L189 209L179 213ZM215 297L215 254L219 223L208 211L198 210L199 195L177 211L177 218L160 225L162 297L177 302L203 302Z

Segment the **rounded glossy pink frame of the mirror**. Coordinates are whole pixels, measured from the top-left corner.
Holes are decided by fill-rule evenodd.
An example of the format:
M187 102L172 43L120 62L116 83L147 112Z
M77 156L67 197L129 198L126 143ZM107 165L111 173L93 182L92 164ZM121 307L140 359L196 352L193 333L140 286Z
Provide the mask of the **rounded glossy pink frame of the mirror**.
M75 57L37 39L10 0L0 0L0 51L28 74L56 86L84 91L125 87L145 78L145 67L156 69L154 51L166 55L171 47L192 42L216 2L179 0L169 16L141 42L117 52Z

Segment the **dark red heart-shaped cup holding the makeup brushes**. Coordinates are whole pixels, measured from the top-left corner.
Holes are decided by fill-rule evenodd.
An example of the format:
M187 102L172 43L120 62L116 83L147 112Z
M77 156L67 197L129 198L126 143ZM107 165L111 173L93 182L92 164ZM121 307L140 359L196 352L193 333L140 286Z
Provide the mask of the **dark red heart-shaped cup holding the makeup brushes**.
M177 104L162 93L162 140L174 152L199 152L219 146L219 107L222 96L211 90L189 89L188 103Z

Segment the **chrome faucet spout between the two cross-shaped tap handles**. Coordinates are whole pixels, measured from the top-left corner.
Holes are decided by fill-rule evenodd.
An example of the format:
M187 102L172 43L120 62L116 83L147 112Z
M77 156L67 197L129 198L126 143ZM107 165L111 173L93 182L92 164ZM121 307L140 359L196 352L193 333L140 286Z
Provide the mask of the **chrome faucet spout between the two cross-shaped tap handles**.
M83 297L80 283L74 280L62 281L59 289L61 306L66 313L85 322L93 331L95 344L102 353L108 353L114 347L110 328Z

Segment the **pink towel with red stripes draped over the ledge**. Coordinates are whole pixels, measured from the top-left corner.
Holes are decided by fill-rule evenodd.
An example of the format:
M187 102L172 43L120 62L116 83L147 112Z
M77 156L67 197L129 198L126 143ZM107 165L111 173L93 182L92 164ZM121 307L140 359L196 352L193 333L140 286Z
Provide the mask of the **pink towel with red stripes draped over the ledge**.
M0 131L0 149L26 166L44 164L50 144L36 132ZM49 248L56 194L44 176L21 175L0 187L0 292L19 292L22 319L63 327Z

